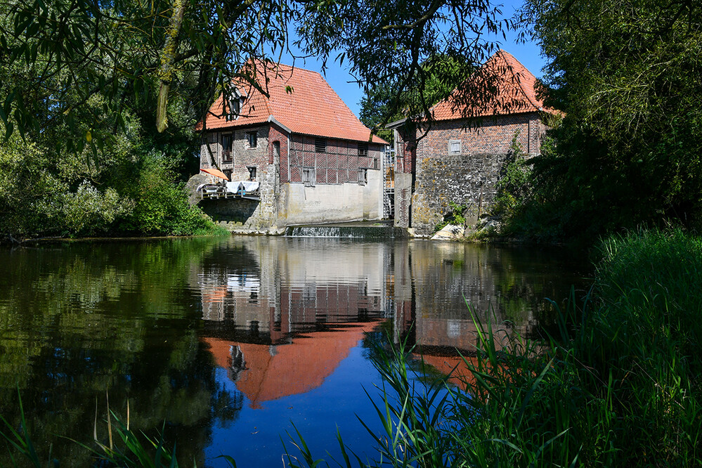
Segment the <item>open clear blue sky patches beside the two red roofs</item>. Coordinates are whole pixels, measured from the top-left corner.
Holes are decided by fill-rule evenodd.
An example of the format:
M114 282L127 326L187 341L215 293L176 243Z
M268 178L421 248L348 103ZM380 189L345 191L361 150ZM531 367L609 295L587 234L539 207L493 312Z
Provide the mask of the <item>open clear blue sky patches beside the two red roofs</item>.
M521 6L521 0L505 0L502 1L502 15L505 18L509 18L514 14L516 8ZM495 38L498 39L498 38ZM514 58L519 60L522 65L524 65L529 71L531 71L536 77L542 77L542 67L545 65L545 61L540 55L539 46L533 42L527 42L526 44L516 44L516 33L509 32L507 34L507 40L502 39L500 36L498 42L500 47L505 49L505 51L511 53ZM287 61L282 58L283 63L292 65L292 58ZM304 61L297 60L295 66L305 68L307 70L314 70L316 72L321 72L322 63L320 60L314 60L308 58ZM358 116L358 110L360 108L360 100L363 97L363 90L360 89L358 84L353 82L353 75L349 73L349 67L344 64L344 66L339 66L338 63L332 62L330 60L327 62L327 70L325 74L327 82L332 86L332 89L339 94L339 96L344 100L344 103L351 108L354 114Z

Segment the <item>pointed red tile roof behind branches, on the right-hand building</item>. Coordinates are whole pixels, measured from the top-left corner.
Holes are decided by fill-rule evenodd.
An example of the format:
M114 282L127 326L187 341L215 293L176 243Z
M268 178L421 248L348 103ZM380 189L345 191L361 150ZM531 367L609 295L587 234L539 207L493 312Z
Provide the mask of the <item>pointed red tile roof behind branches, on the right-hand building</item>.
M448 98L431 108L436 120L519 114L522 112L558 112L545 108L536 96L536 77L512 54L498 51L479 70L455 89Z

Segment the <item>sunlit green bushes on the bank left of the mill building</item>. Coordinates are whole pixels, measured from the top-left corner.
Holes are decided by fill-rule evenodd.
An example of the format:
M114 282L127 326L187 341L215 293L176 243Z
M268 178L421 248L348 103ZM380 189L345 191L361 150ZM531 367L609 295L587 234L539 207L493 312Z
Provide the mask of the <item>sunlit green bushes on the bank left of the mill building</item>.
M0 233L22 240L216 232L183 190L183 167L192 164L178 148L150 148L138 122L132 130L97 160L13 134L0 147Z

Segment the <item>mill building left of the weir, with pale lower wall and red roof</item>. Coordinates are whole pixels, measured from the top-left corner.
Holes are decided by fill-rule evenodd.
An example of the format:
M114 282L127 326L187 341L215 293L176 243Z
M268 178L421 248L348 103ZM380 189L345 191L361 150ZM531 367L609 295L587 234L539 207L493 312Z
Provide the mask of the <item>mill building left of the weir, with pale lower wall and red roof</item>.
M235 186L256 181L258 193L202 200L204 211L252 230L380 219L386 142L370 138L317 72L250 62L242 74L252 79L233 83L197 126L200 168L221 169Z

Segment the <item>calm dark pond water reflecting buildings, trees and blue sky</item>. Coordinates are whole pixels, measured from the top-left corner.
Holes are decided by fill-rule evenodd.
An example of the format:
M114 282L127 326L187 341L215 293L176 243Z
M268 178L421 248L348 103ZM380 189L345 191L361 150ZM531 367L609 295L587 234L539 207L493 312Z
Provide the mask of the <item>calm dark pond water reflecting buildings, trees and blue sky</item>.
M63 466L106 437L110 409L164 427L186 466L280 467L297 428L313 453L372 450L370 343L419 344L446 372L474 351L465 301L504 334L550 316L545 297L585 287L561 250L329 238L70 242L0 249L0 414L18 387L34 441ZM464 299L465 298L465 299ZM96 416L97 415L97 416ZM164 426L165 422L165 426ZM293 426L294 424L294 426ZM47 455L48 456L48 455ZM7 462L0 450L0 464Z

